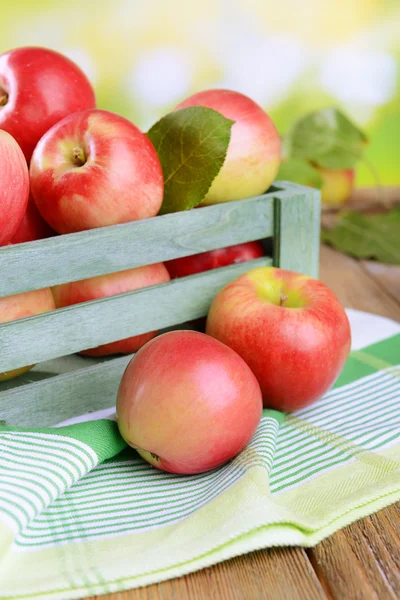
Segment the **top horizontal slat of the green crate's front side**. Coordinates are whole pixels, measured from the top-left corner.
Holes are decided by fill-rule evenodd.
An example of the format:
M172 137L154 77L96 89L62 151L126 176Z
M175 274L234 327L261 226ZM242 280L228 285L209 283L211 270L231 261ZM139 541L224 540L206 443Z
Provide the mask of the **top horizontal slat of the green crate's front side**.
M0 248L0 297L187 256L272 235L276 191Z

